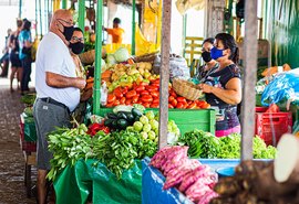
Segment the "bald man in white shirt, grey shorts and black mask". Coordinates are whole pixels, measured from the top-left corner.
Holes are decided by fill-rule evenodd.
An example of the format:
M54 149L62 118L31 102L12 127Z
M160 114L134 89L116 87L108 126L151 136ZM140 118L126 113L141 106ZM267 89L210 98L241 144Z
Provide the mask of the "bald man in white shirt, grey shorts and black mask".
M56 10L50 32L40 42L37 53L37 100L33 117L38 135L38 201L47 203L47 173L53 157L47 135L56 127L70 127L70 112L80 101L85 79L75 76L75 65L69 51L73 34L73 18L69 10Z

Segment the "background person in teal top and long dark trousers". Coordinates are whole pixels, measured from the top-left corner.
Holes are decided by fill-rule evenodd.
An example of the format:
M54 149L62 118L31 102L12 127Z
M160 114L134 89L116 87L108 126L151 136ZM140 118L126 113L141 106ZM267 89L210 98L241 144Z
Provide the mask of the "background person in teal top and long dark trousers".
M20 44L20 52L19 58L22 62L23 73L21 79L21 95L24 92L29 92L29 82L31 75L31 46L32 46L32 39L31 39L31 22L28 20L23 21L23 28L19 35L19 44Z

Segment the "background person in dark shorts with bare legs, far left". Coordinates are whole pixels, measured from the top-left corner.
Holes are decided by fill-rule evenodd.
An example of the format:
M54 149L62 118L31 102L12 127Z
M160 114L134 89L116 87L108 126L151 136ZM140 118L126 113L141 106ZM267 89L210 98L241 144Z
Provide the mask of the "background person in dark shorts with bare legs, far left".
M19 34L22 30L22 20L17 20L17 30L11 33L10 40L9 40L9 47L11 49L10 52L10 63L11 63L11 74L10 74L10 92L13 92L12 83L16 74L18 75L18 88L19 88L19 83L21 82L22 78L22 62L19 58Z

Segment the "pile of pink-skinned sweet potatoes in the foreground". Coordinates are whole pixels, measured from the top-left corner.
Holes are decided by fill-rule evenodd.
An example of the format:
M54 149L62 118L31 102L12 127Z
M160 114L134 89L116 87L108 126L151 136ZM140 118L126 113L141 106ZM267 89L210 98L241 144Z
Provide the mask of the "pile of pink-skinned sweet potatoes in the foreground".
M217 174L198 160L188 159L188 147L166 147L151 160L151 165L159 169L166 178L164 190L177 187L190 201L208 204L218 194L213 191Z

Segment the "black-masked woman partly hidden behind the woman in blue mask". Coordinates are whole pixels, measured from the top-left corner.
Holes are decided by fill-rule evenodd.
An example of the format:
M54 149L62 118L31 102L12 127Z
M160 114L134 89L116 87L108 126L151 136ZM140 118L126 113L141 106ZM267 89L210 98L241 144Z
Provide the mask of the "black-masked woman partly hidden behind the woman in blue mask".
M213 49L214 45L214 37L209 37L204 40L203 44L202 44L202 57L205 62L205 64L203 66L199 66L195 77L199 80L199 82L204 82L206 76L208 76L210 73L213 73L214 71L216 71L219 66L219 64L217 63L217 61L213 60L210 56L210 50Z

